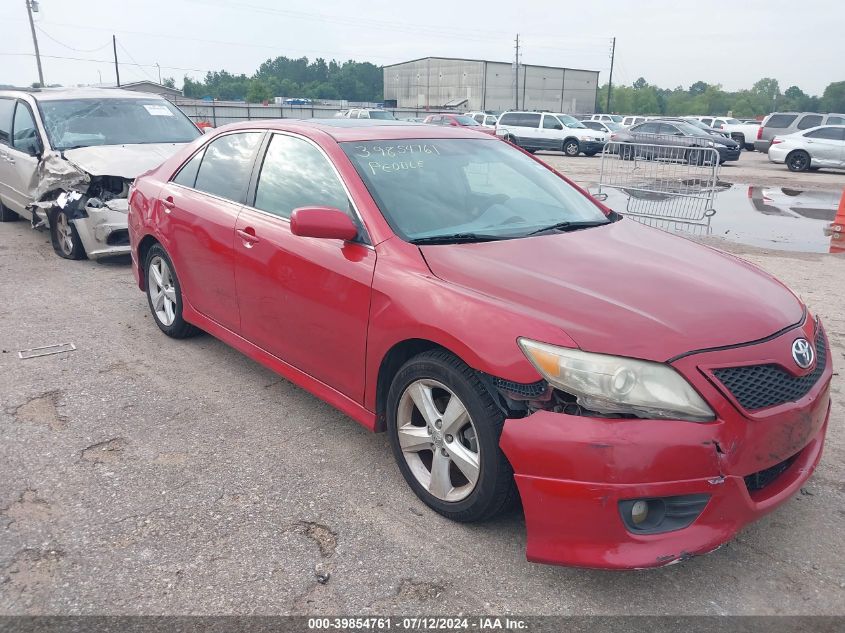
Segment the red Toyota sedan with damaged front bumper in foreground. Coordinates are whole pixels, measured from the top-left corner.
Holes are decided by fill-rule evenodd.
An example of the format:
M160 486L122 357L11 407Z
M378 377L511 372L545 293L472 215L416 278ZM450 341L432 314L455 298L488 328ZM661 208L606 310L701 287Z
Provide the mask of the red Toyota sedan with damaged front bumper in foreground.
M165 334L387 432L451 519L521 498L533 561L708 552L821 457L830 349L795 295L472 130L228 125L137 179L129 227Z

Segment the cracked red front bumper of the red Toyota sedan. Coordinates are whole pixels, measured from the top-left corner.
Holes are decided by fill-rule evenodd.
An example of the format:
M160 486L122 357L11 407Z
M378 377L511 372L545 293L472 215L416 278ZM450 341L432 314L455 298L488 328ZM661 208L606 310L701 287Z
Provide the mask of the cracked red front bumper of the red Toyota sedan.
M822 454L830 360L799 401L750 413L722 395L723 387L706 373L736 363L743 354L747 360L749 350L758 359L777 358L769 352L791 346L795 336L792 330L740 351L707 352L675 363L709 402L717 403L712 423L548 411L507 420L500 445L522 498L528 560L617 569L671 564L718 548L798 492ZM746 477L782 463L788 467L764 487L746 484ZM692 494L710 499L688 527L678 530L634 533L620 514L623 500Z

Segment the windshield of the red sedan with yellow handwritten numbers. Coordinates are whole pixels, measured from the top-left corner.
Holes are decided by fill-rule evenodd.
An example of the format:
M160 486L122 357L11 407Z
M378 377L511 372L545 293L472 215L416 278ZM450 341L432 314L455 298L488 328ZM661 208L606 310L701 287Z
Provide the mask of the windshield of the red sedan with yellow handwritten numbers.
M496 139L341 143L394 232L405 240L525 237L562 222L605 223L588 197Z

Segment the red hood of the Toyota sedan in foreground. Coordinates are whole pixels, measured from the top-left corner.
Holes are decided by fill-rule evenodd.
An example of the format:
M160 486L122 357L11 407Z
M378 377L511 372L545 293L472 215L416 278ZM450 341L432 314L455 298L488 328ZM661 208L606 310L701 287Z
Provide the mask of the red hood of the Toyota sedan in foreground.
M552 323L591 352L666 361L765 338L804 315L757 267L630 219L420 250L443 281Z

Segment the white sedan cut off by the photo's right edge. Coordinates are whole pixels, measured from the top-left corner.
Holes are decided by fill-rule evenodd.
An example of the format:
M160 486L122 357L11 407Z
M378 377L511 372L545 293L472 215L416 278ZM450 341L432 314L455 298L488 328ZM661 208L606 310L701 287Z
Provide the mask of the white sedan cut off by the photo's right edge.
M769 146L769 160L785 164L790 171L845 169L845 125L820 125L776 136Z

